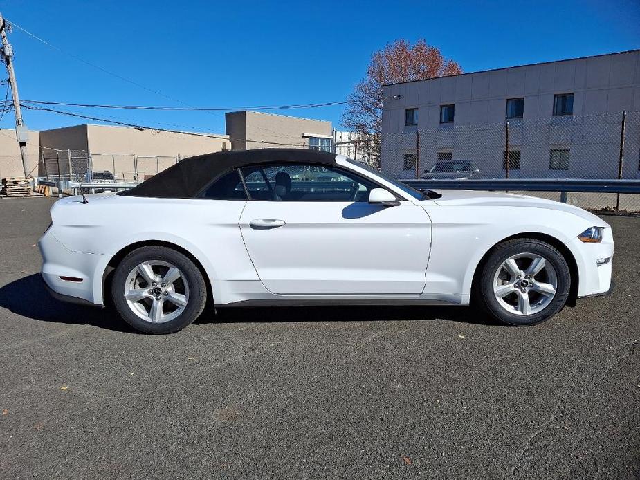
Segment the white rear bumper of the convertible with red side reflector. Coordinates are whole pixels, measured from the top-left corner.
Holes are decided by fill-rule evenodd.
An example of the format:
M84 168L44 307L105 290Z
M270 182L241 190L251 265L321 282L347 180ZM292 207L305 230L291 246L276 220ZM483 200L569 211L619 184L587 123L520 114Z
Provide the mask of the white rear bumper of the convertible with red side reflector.
M38 246L42 255L42 278L54 296L65 301L76 299L74 302L103 305L102 272L111 255L73 252L62 245L51 230L45 232Z

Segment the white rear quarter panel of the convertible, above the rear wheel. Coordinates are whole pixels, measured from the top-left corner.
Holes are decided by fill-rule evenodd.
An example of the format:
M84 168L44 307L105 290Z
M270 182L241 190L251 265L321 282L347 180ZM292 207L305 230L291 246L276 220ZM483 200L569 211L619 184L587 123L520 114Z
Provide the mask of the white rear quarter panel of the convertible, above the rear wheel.
M188 250L210 280L257 280L238 221L245 201L75 197L51 210L55 237L74 252L115 255L140 241L164 241ZM102 273L100 273L100 278Z

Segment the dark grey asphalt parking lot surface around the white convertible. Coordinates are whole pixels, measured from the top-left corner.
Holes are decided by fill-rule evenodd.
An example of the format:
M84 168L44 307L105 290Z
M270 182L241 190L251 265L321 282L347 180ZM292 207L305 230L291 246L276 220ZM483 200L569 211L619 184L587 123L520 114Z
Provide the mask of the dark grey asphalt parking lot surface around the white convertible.
M44 290L50 199L0 200L1 479L640 477L640 218L610 297L539 326L471 308L236 308L175 335Z

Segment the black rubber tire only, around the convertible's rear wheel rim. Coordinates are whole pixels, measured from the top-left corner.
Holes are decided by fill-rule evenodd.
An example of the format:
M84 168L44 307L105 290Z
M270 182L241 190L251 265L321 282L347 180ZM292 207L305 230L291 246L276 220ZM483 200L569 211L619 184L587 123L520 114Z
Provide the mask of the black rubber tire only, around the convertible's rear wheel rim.
M172 320L159 323L143 320L132 311L125 299L125 282L128 281L129 273L138 265L148 261L167 262L175 266L188 285L188 301L184 310ZM137 331L154 334L175 333L194 322L202 313L207 301L207 286L200 270L185 255L172 248L146 246L129 253L116 267L111 283L111 298L120 316ZM162 308L161 306L161 311Z

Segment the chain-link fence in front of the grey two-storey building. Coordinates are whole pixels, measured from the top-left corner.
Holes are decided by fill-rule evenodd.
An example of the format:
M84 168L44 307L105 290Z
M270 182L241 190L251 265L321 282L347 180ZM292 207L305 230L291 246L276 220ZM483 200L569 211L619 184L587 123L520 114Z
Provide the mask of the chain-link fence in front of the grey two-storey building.
M381 171L399 179L640 179L640 111L414 129L381 139ZM529 192L560 200L560 192ZM574 192L591 210L640 211L640 195Z

